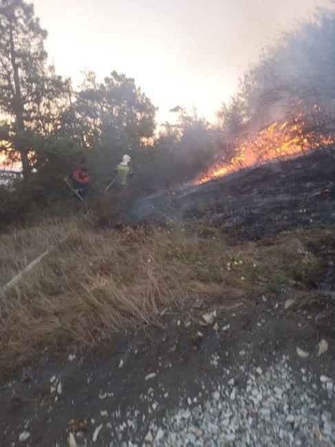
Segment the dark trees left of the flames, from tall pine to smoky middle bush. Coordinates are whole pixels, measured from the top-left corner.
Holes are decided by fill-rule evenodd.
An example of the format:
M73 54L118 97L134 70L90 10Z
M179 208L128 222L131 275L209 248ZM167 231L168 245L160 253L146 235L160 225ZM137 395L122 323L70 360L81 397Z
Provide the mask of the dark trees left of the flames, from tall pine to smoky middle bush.
M24 184L8 189L12 204L27 201L24 208L18 201L18 211L54 203L65 192L63 176L83 163L98 196L129 153L135 197L157 188L173 195L213 162L215 133L196 111L176 107L177 124L166 123L156 138L156 108L132 78L114 71L100 82L86 72L74 90L47 66L47 32L25 1L1 6L0 32L0 151L23 164Z

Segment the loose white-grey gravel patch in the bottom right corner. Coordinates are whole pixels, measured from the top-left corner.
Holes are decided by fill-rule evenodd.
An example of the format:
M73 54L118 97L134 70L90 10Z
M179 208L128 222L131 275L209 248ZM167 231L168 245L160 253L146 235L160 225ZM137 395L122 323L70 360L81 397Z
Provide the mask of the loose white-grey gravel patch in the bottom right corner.
M334 415L326 411L332 408L332 395L328 393L320 402L317 393L320 387L314 391L313 378L307 369L302 371L307 378L304 383L301 377L292 375L288 362L285 358L263 367L261 373L247 375L247 383L241 380L241 384L235 384L230 378L227 386L223 380L208 395L202 384L205 400L199 395L193 405L191 397L181 397L180 406L166 413L160 428L151 419L151 431L140 446L316 447L322 442L322 447L334 447ZM255 366L246 365L246 371L249 370L255 371ZM226 375L229 374L231 371L227 369ZM321 382L333 385L329 378ZM144 421L141 417L138 423ZM123 430L122 435L129 433ZM111 445L129 447L121 440Z

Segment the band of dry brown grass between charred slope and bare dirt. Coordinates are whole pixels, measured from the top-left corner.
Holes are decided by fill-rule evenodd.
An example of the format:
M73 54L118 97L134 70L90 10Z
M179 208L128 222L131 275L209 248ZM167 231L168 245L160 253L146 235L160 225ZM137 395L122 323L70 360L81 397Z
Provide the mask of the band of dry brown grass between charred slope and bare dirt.
M219 233L197 240L182 230L93 230L89 221L78 226L72 219L1 235L1 285L48 246L56 248L0 294L0 368L16 367L45 347L92 347L191 297L275 294L318 268L312 254L301 253L304 237L313 235L228 248Z

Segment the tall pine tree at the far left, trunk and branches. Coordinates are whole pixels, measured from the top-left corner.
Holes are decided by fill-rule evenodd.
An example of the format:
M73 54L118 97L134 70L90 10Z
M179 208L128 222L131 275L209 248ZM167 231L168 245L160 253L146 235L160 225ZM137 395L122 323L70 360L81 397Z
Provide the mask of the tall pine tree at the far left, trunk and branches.
M7 121L8 157L20 157L23 175L31 171L32 131L50 135L64 93L63 80L47 67L47 32L23 0L0 6L0 111Z

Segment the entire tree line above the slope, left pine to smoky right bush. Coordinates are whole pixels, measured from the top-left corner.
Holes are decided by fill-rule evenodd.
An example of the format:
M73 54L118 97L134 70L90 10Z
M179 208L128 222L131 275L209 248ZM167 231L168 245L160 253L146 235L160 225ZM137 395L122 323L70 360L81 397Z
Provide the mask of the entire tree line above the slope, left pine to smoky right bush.
M132 197L165 188L173 198L177 186L215 162L229 163L239 155L239 137L281 118L283 110L285 115L307 111L306 127L335 133L334 11L318 10L314 21L263 50L237 94L217 113L216 126L196 110L188 113L177 106L175 124L165 123L155 135L156 108L135 80L113 71L101 81L86 72L74 89L71 80L47 66L47 33L34 8L23 0L1 5L0 151L12 162L21 160L22 188L33 190L29 197L38 203L62 197L63 175L83 162L98 195L125 153L134 171ZM19 191L19 183L12 188Z

